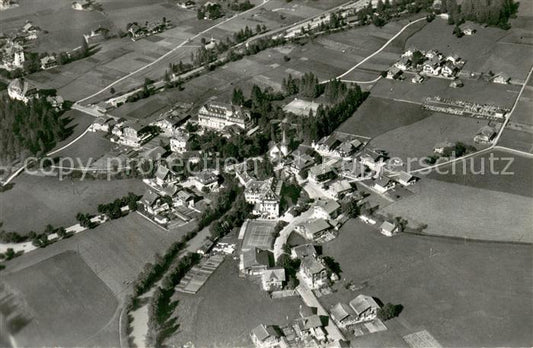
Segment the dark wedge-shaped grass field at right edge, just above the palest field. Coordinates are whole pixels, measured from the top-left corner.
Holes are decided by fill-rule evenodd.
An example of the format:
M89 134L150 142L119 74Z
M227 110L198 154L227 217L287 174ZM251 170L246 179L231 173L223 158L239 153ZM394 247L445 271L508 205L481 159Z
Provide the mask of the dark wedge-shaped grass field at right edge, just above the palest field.
M489 156L493 154L494 174L490 173ZM512 153L504 151L494 151L491 154L483 154L467 160L466 168L474 168L476 172L484 169L485 174L476 175L468 170L463 172L462 166L458 166L456 173L451 172L451 166L442 168L450 173L439 174L433 171L428 175L431 179L442 180L445 182L466 185L475 188L481 188L491 191L506 192L525 197L533 197L533 160L525 157L515 156ZM473 161L473 163L471 163ZM505 168L509 164L509 168ZM503 170L510 172L510 175L499 175Z

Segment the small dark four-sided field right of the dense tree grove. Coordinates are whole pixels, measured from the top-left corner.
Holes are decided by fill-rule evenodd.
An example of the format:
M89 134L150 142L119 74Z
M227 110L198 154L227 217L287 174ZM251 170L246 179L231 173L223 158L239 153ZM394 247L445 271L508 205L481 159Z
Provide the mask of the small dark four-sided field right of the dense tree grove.
M430 114L420 105L370 96L338 130L373 138L423 120Z

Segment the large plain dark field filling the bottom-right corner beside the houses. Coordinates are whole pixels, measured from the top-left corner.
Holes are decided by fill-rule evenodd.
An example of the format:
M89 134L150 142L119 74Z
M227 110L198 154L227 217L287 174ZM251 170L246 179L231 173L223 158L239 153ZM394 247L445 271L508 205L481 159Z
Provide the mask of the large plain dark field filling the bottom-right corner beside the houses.
M530 245L387 238L351 220L323 252L340 262L343 280L362 288L351 292L342 282L321 301L329 307L364 293L404 306L398 319L385 322L386 333L357 338L357 346L401 346L399 337L424 329L444 347L530 346L531 251Z

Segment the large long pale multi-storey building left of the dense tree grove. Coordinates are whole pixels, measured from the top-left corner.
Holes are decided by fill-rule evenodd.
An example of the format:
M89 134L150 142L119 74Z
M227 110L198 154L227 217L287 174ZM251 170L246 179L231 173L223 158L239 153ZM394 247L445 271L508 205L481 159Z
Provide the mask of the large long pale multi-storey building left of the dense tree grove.
M221 131L229 126L247 129L251 126L248 111L239 106L222 103L203 105L198 111L198 124L201 127Z

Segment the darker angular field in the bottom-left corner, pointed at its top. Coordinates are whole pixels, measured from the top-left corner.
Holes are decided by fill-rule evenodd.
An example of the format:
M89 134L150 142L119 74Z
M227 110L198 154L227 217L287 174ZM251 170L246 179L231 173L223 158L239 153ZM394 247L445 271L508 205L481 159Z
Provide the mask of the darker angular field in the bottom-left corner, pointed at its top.
M109 288L73 251L12 273L3 280L33 314L15 336L20 346L83 346L110 321L118 302ZM117 345L118 336L99 344ZM111 339L114 338L114 339Z

